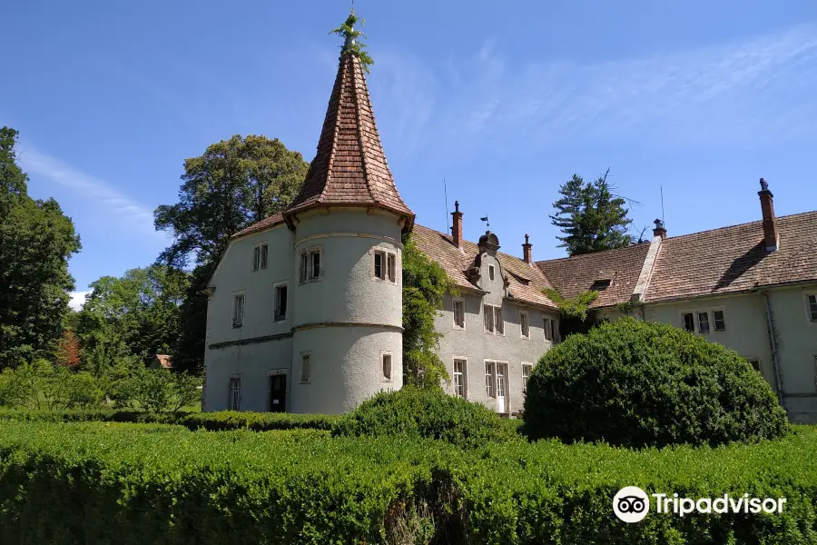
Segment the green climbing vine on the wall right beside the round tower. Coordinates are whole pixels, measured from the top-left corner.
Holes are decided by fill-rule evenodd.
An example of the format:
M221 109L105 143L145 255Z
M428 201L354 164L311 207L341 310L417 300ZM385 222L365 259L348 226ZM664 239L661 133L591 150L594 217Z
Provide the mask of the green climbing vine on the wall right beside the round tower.
M432 262L410 235L403 237L403 381L419 387L439 388L448 381L445 364L437 350L442 336L434 318L448 293L456 286L448 273Z

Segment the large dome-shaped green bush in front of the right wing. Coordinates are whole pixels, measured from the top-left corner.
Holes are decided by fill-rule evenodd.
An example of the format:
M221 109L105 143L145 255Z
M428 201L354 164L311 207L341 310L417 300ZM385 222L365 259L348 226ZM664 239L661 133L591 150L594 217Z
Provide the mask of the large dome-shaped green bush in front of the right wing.
M736 352L633 318L548 351L527 382L523 414L533 440L630 447L752 442L789 429L768 382Z

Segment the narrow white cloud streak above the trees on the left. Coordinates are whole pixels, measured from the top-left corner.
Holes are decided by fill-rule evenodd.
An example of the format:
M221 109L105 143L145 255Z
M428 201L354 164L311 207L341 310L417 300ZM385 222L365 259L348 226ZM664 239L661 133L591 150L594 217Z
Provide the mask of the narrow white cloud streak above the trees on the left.
M153 229L153 211L115 189L112 183L83 173L29 145L20 146L20 163L30 175L43 176L80 194L94 208L94 213L105 215L127 229L164 236Z

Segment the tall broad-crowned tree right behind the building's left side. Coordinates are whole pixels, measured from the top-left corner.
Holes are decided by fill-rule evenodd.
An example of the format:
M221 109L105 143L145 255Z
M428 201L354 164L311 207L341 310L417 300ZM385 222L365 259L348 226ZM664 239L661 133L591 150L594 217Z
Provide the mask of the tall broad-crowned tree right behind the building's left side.
M192 267L182 302L174 366L200 370L204 360L207 299L202 295L232 234L283 211L300 191L309 163L280 140L233 136L184 161L179 203L154 213L159 231L173 243L159 263Z

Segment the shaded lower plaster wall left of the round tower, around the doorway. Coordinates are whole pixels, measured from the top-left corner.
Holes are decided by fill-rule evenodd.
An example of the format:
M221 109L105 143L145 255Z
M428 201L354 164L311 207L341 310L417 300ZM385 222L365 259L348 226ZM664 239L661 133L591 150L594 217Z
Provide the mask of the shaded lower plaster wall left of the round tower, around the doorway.
M208 350L207 411L224 411L228 407L230 378L241 377L241 411L270 410L270 380L268 373L287 373L287 411L292 404L292 340L255 342ZM295 379L297 380L297 379Z

